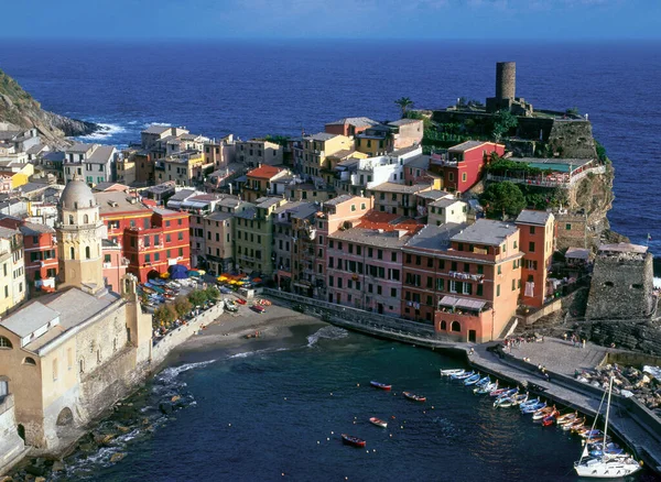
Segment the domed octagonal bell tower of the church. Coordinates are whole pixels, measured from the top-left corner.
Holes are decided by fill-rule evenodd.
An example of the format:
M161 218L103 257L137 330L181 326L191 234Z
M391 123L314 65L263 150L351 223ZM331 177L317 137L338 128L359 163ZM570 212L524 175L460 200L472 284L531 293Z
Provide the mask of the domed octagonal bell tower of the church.
M105 288L99 206L79 177L69 180L57 205L57 258L61 287L75 286L98 294Z

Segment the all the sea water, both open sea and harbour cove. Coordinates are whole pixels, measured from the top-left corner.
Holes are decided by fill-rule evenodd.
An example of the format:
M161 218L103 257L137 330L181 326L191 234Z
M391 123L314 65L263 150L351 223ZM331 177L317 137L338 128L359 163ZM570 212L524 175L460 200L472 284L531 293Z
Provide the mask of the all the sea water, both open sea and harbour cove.
M613 229L660 255L660 47L561 39L2 41L0 68L43 108L107 128L84 141L127 145L151 123L248 139L314 133L343 117L393 120L402 96L426 109L459 97L484 100L494 95L496 62L516 61L518 96L537 108L588 114L616 169ZM65 479L576 480L579 441L441 380L438 369L457 360L318 326L263 343L173 360L142 394L148 429L76 454ZM391 383L393 392L370 388L370 380ZM427 402L409 402L403 390ZM185 406L159 415L159 403L175 394ZM388 428L370 425L371 416ZM343 432L367 447L343 446ZM110 462L116 452L126 457Z

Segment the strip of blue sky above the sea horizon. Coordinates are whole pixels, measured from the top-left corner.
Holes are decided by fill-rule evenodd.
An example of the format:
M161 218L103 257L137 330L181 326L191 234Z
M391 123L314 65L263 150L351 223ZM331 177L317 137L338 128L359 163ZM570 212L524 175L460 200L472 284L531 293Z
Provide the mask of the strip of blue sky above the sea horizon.
M661 0L3 0L2 17L22 40L661 39Z

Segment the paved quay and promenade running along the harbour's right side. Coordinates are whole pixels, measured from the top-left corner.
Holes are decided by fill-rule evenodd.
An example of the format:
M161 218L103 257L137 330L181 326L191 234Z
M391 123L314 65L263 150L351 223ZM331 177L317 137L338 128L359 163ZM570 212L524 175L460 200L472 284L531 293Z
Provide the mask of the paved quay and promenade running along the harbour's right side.
M271 289L268 295L284 306L303 304L307 308L306 313L321 316L325 321L346 329L460 355L475 370L489 373L512 385L537 385L541 390L530 388L535 396L552 399L559 406L576 409L593 417L604 394L602 390L573 377L575 370L593 369L606 357L606 349L592 343L587 343L583 349L572 347L571 342L546 339L543 343L522 343L519 348L512 348L511 354L509 349L506 353L499 353L490 349L499 344L498 342L453 342L436 338L423 328L418 329L419 324L412 326L407 320L386 319L387 317L367 311L364 311L361 317L358 313L360 310L343 309L342 306ZM530 358L530 362L523 361L523 358ZM540 364L545 366L550 380L545 380L538 370ZM661 420L658 417L635 401L614 396L610 427L639 459L661 474Z

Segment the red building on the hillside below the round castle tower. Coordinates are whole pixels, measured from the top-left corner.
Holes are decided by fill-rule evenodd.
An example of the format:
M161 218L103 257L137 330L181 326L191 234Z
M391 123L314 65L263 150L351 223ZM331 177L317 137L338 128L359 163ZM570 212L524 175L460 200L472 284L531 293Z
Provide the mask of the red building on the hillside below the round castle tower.
M465 193L481 177L491 153L505 154L505 145L494 142L466 141L449 147L447 153L432 154L432 171L438 174L442 189Z

